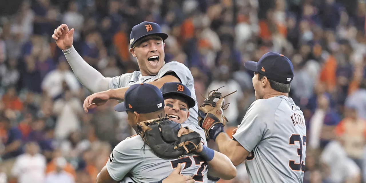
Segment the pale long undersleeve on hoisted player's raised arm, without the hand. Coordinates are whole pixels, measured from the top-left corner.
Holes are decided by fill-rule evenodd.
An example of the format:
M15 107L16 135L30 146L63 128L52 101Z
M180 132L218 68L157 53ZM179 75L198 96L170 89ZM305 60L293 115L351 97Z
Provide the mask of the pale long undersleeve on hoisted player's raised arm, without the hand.
M76 78L78 78L87 89L93 93L109 89L109 80L111 78L105 78L95 68L86 63L74 46L63 52Z

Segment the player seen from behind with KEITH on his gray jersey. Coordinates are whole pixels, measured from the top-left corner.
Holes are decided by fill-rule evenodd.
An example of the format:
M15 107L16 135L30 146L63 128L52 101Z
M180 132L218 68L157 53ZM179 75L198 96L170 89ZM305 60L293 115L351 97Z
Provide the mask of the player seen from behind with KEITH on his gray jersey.
M294 76L292 63L283 55L268 52L258 62L246 61L244 66L255 73L256 100L232 139L222 123L210 128L210 137L234 165L246 160L251 183L302 183L306 126L303 112L288 97Z

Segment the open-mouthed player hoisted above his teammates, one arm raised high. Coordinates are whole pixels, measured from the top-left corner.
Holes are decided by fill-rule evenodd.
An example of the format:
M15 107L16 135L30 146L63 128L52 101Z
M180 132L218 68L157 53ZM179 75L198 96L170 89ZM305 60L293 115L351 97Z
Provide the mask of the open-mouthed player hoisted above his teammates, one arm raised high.
M64 52L79 81L94 93L84 101L86 112L90 108L104 104L108 99L124 100L124 93L128 87L138 83L150 83L160 88L166 82L180 82L188 87L191 97L196 101L191 71L178 61L164 62L164 40L168 35L161 32L158 24L142 22L132 28L130 52L136 57L140 71L113 78L105 78L83 60L72 46L73 34L74 29L69 30L66 24L62 24L55 29L52 38ZM198 123L197 110L197 105L190 108L188 120Z

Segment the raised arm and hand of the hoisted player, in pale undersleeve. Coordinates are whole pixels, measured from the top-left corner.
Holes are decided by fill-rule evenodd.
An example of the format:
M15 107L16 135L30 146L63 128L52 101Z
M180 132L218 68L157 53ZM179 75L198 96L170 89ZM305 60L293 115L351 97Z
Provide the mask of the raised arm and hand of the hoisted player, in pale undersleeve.
M57 46L64 52L64 55L71 66L76 78L91 92L96 93L109 89L109 81L95 68L91 67L76 51L72 42L74 40L74 29L69 30L66 24L55 29L52 38Z

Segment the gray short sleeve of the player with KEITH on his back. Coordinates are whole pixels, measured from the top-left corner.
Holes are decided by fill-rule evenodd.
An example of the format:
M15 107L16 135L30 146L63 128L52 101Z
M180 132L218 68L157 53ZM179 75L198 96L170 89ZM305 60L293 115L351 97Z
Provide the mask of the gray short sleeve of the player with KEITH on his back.
M266 118L272 119L274 115L265 111L264 99L253 102L247 110L242 123L233 135L233 138L240 143L247 151L251 152L264 137L267 128ZM269 113L268 113L269 112Z

